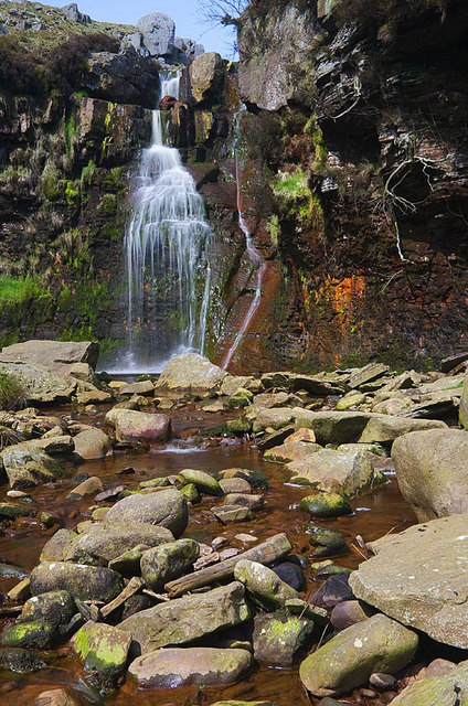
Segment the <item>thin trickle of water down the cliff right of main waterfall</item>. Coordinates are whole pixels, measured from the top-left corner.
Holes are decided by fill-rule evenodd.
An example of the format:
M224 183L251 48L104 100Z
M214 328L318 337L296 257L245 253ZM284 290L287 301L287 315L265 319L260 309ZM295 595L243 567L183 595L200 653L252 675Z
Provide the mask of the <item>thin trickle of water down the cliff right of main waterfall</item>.
M236 126L236 132L238 136L238 131L240 131L240 120L241 120L241 115L242 113L245 110L245 106L243 105L240 109L240 111L236 115L236 119L235 119L235 126ZM253 272L255 274L255 296L254 299L252 300L252 303L244 317L243 323L241 329L237 331L236 336L231 345L231 347L228 349L227 353L224 356L224 360L222 362L222 367L224 370L226 370L228 367L228 365L231 364L235 353L237 352L238 346L241 345L242 339L243 336L247 333L248 328L257 312L257 309L260 304L260 300L262 300L262 285L263 285L263 280L265 277L265 270L266 270L266 264L264 258L262 257L262 255L258 253L258 250L256 249L256 247L254 246L253 242L252 242L252 236L251 233L247 228L247 225L244 221L244 216L242 214L242 195L241 195L241 170L240 170L240 165L238 165L238 149L237 149L237 141L238 141L238 137L236 139L236 143L234 146L234 150L235 150L235 171L236 171L236 183L237 183L237 213L238 213L238 225L241 231L244 233L245 235L245 249L248 256L248 259L252 264L252 268L253 268ZM252 275L251 275L252 277Z

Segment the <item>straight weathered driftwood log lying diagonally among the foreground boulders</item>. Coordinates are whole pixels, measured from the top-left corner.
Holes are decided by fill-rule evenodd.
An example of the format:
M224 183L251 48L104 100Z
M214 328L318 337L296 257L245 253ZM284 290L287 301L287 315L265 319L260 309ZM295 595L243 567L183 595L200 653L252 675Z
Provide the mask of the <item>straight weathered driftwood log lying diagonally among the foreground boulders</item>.
M277 534L274 537L266 539L266 542L258 544L256 547L247 549L247 552L243 552L242 554L237 554L237 556L233 556L231 559L225 559L224 561L220 561L220 564L209 566L200 571L195 571L194 574L189 574L188 576L182 576L174 581L170 581L169 584L166 584L164 590L168 591L170 598L177 598L178 596L182 596L182 593L192 591L195 588L201 588L203 586L214 584L215 581L231 578L234 574L235 565L237 561L241 561L241 559L249 559L251 561L258 561L258 564L268 565L281 559L289 554L290 550L291 545L287 536L285 534Z

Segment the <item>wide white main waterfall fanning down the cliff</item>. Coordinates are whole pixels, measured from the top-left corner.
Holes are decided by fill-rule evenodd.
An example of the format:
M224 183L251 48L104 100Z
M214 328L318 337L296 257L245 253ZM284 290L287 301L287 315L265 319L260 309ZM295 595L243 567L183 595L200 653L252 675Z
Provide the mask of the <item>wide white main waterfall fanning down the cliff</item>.
M179 82L179 73L161 73L160 98L178 98ZM176 353L202 353L206 336L211 228L179 151L166 142L164 127L161 111L153 110L151 145L142 152L125 237L125 367L130 371L159 372Z

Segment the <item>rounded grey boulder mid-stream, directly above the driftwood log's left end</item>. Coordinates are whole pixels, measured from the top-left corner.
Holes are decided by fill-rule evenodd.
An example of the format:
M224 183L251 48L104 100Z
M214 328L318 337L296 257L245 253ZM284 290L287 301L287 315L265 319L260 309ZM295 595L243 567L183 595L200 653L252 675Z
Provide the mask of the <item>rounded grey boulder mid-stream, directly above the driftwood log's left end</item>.
M119 500L107 513L106 524L114 522L146 522L167 527L174 537L180 537L189 522L187 500L176 489L160 490L149 495L129 495Z

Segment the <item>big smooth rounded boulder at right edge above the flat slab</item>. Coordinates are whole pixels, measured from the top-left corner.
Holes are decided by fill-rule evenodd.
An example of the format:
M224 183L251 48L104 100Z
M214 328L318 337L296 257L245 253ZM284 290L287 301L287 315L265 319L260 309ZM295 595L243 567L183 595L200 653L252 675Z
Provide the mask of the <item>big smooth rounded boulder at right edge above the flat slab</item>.
M413 431L395 440L392 460L419 522L468 512L468 431Z

